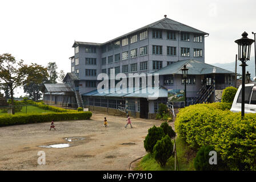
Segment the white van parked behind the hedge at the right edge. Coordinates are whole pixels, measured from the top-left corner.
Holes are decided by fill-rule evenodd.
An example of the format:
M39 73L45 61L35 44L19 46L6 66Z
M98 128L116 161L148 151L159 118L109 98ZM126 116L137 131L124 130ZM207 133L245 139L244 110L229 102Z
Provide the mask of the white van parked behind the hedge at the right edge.
M241 112L242 85L239 86L231 107L234 113ZM256 113L256 83L245 84L245 113Z

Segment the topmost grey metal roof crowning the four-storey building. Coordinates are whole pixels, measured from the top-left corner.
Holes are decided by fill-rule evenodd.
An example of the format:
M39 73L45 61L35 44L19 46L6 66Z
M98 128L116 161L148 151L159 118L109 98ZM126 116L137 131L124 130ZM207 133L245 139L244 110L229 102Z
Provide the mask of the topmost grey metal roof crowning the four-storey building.
M169 19L169 18L163 18L161 20L158 20L157 22L148 24L147 26L138 28L137 30L131 31L131 32L125 34L125 35L119 36L118 38L109 40L109 41L107 41L105 43L102 43L102 44L100 44L100 43L90 43L90 42L75 42L73 44L73 47L75 47L76 45L79 45L79 44L81 44L81 45L90 45L90 46L102 46L103 44L107 44L107 43L113 42L114 40L118 40L118 39L124 38L126 36L131 35L131 34L135 34L138 31L146 30L147 28L161 29L161 30L172 30L172 31L181 31L181 32L190 32L190 33L194 33L194 34L209 35L206 32L198 30L197 28L193 28L193 27L187 26L186 24L176 22L175 20L172 20L172 19Z

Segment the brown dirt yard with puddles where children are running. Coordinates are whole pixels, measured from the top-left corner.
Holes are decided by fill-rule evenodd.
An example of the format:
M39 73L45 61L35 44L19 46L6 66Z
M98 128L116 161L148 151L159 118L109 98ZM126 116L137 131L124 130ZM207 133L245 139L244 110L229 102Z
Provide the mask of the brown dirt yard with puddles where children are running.
M107 117L109 126L103 126ZM34 123L0 127L0 170L127 170L130 162L146 154L143 140L147 130L161 121L93 113L90 120ZM84 137L67 142L66 137ZM67 148L42 148L48 144L70 143ZM38 164L38 151L46 164Z

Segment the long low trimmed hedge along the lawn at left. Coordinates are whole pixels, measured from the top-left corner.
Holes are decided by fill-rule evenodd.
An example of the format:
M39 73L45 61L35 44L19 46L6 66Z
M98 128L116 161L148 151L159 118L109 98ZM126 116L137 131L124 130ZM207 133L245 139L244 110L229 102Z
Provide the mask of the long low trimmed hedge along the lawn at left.
M0 115L0 126L50 122L53 119L54 121L84 120L90 119L91 115L92 113L90 111L45 114L7 114Z

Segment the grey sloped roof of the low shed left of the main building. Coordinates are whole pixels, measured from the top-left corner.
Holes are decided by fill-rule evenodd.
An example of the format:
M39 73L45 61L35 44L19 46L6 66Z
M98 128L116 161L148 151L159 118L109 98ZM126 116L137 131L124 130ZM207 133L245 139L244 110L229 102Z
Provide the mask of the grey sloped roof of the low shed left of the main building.
M74 92L67 84L43 84L42 92Z

